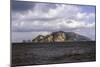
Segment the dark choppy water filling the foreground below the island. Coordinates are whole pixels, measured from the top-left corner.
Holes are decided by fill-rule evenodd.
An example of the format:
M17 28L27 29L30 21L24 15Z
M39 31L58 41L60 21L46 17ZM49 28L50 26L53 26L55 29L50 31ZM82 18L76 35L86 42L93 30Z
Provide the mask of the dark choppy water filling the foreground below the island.
M95 41L12 43L12 66L96 60Z

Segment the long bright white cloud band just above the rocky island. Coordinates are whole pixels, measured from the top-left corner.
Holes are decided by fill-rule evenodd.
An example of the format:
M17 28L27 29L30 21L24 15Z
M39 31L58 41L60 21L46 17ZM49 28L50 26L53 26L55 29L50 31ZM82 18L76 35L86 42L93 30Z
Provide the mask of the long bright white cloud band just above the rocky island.
M92 28L95 26L95 23L85 23L84 21L76 21L76 20L67 20L67 19L56 19L52 21L33 21L29 22L20 22L15 24L16 29L20 29L20 31L58 31L65 30L69 31L70 29L78 29L78 28ZM15 30L16 30L15 29ZM18 31L18 30L17 30Z

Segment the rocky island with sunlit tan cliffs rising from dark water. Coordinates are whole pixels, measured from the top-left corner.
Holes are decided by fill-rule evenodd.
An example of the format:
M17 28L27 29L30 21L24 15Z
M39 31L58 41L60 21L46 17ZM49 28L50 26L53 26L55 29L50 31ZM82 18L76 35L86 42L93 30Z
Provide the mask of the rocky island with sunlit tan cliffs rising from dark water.
M53 32L49 35L39 35L32 40L32 42L68 42L68 41L90 41L91 39L76 34L74 32Z

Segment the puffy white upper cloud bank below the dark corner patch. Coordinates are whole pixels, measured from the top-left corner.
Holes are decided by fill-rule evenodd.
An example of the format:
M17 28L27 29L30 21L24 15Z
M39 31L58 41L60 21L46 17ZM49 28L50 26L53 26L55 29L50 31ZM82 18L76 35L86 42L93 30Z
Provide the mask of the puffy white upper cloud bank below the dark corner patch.
M47 10L46 12L43 10ZM74 9L74 10L72 10ZM34 8L23 11L22 12L14 12L12 13L13 18L16 18L17 20L24 20L24 19L30 19L30 18L64 18L64 17L72 17L75 16L76 13L80 10L77 6L73 5L58 5L56 4L56 8L50 8L46 7L46 4L36 4Z

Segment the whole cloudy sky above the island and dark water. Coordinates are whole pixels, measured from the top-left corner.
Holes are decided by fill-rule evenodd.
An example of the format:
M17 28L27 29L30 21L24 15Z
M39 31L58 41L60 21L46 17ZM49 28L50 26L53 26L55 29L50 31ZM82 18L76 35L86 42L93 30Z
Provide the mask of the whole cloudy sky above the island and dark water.
M54 31L76 32L95 40L95 6L12 1L12 42Z

